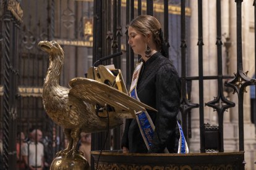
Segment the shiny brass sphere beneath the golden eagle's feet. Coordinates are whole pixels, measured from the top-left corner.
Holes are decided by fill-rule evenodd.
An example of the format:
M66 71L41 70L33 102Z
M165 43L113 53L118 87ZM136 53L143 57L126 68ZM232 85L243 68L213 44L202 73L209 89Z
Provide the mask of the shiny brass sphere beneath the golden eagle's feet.
M58 156L51 163L51 170L59 169L90 169L88 161L79 154L74 156Z

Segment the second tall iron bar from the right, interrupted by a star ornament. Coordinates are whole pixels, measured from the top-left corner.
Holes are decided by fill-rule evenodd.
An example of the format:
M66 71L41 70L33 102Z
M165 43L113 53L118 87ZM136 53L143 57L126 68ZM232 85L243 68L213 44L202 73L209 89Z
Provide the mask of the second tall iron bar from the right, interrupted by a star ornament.
M218 54L218 95L223 94L223 79L222 77L222 42L221 42L221 1L216 1L216 19L217 19L217 54ZM219 132L220 132L220 150L219 152L224 152L223 148L223 111L218 111L218 124L219 124Z

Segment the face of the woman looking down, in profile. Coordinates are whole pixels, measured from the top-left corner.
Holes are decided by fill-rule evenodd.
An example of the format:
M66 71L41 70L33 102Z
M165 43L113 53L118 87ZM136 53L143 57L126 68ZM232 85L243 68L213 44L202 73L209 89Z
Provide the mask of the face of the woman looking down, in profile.
M128 44L132 47L135 54L145 55L146 38L143 34L138 33L132 26L128 28L129 40Z

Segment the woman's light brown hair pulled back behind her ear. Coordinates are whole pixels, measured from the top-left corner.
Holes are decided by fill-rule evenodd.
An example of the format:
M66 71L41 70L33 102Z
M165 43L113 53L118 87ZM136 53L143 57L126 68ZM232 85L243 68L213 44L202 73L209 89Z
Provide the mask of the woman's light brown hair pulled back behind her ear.
M130 22L130 25L136 31L138 31L143 36L152 34L152 39L156 44L158 50L161 49L161 39L160 39L160 28L161 24L158 20L151 15L139 15Z

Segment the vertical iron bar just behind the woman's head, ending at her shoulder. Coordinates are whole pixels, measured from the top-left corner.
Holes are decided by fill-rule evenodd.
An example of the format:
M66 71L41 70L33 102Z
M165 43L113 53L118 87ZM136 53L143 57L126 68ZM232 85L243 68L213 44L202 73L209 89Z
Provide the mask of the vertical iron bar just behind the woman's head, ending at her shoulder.
M164 43L168 47L169 56L169 14L168 14L168 1L164 1Z

